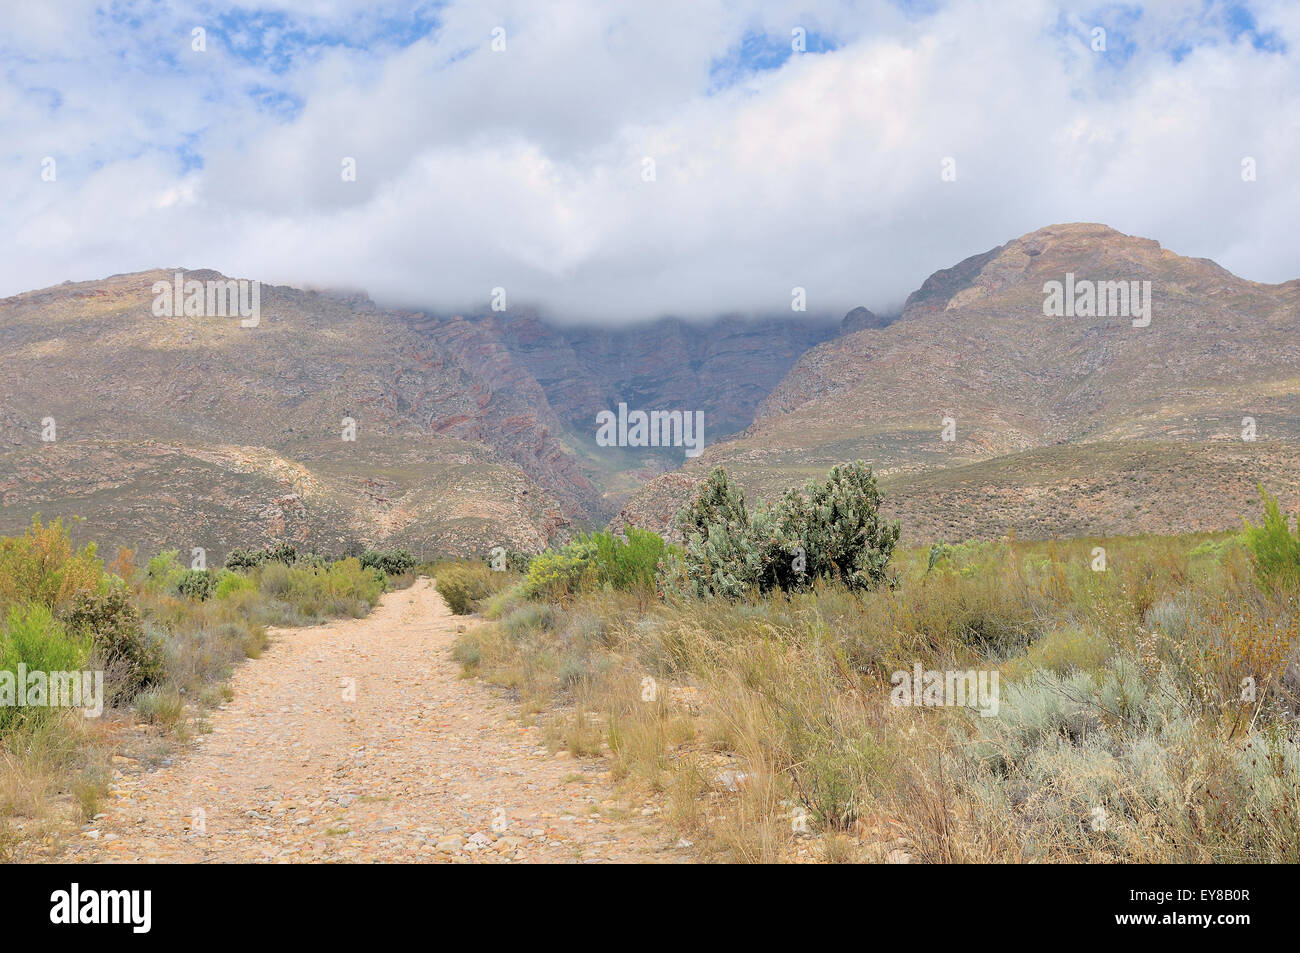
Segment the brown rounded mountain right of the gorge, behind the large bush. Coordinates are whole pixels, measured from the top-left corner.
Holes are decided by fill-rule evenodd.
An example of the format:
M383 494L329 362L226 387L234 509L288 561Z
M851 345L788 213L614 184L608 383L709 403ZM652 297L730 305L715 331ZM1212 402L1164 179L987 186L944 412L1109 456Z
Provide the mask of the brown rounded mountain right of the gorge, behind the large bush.
M1139 300L1149 287L1148 325L1113 313L1118 286L1100 282L1119 281ZM1093 282L1110 313L1045 315L1049 282ZM1245 281L1104 225L1044 228L811 348L750 428L616 523L667 528L712 465L771 498L861 458L914 541L1240 527L1257 482L1300 504L1297 332L1300 281Z

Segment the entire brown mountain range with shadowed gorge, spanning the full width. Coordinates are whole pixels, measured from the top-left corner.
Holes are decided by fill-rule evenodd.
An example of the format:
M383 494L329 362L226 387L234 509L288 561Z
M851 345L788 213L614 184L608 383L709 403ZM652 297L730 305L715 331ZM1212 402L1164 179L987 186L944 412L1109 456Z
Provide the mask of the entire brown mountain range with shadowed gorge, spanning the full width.
M178 270L224 280L0 300L0 532L39 511L209 559L282 538L537 550L611 517L668 529L712 465L772 498L859 458L911 541L1231 528L1257 484L1300 504L1300 281L1104 225L1040 229L936 272L901 313L838 322L593 328L263 285L244 328L156 316ZM1112 306L1110 282L1138 282L1149 322L1097 307L1105 291L1045 313L1052 282ZM619 403L703 411L708 447L597 446Z

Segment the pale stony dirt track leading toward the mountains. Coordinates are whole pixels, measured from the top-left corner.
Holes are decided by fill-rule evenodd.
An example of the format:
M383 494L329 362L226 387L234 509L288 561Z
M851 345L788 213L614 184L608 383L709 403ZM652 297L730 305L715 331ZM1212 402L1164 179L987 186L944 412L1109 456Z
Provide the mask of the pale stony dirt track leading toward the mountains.
M429 580L365 619L274 633L169 767L118 759L79 862L688 861L599 761L547 751L500 692L459 677Z

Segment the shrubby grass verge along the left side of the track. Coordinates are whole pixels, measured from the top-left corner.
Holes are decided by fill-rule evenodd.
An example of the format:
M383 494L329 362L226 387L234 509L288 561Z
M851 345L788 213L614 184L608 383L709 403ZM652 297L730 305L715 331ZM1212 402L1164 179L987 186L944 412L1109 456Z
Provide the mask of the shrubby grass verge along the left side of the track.
M228 701L229 679L268 628L360 618L415 576L384 554L326 560L292 547L243 551L238 569L186 569L176 553L105 564L61 523L0 540L0 681L26 672L101 672L103 714L0 705L0 859L55 854L100 810L114 771L169 763ZM395 568L389 564L389 568ZM20 664L22 668L20 668ZM51 679L51 684L53 679ZM3 701L3 685L0 685Z

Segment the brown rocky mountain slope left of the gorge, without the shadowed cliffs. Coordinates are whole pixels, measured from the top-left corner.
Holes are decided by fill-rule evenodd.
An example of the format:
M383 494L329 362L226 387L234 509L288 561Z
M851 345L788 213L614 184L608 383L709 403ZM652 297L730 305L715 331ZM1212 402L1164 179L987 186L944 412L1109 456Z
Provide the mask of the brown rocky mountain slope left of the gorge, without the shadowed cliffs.
M242 328L155 316L170 280L0 302L0 532L39 510L147 547L478 551L545 545L594 498L530 407L367 299L263 286Z

